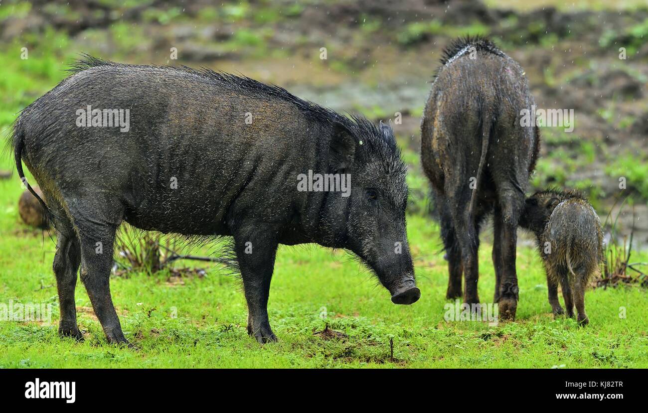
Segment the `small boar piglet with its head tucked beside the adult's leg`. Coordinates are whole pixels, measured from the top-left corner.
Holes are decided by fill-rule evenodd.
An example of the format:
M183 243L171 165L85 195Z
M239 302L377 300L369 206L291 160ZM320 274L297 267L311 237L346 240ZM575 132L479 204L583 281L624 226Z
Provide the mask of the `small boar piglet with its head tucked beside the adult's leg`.
M537 237L554 315L563 313L560 283L568 317L573 317L575 305L579 324L588 324L585 289L603 261L601 221L592 205L575 191L537 192L526 199L520 227Z

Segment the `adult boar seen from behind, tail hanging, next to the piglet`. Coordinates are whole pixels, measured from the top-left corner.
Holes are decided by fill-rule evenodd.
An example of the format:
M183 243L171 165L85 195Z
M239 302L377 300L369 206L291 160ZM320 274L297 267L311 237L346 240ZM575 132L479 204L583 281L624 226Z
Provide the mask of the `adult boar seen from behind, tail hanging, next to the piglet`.
M522 67L484 38L457 39L443 52L421 124L421 159L432 183L448 258L448 298L480 302L479 229L494 212L494 301L515 318L516 229L538 154L538 129L521 126L534 104Z

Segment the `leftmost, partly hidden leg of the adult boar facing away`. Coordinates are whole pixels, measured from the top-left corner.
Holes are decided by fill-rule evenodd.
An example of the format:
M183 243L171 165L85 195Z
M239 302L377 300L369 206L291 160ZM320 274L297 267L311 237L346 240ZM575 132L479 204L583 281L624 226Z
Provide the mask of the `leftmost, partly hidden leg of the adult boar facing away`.
M446 298L454 299L461 297L461 277L463 276L463 263L461 262L461 247L457 241L457 234L452 224L452 216L448 210L448 203L445 199L437 197L441 215L441 238L445 247L448 260L448 290Z

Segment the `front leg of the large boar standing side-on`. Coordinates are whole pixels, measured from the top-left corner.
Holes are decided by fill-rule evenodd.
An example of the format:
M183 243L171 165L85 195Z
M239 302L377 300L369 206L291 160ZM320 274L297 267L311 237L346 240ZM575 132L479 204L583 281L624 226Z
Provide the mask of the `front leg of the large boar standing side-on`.
M268 320L270 280L277 254L277 241L266 234L274 230L252 230L254 226L235 232L235 252L243 278L243 289L248 302L248 334L264 344L277 341Z

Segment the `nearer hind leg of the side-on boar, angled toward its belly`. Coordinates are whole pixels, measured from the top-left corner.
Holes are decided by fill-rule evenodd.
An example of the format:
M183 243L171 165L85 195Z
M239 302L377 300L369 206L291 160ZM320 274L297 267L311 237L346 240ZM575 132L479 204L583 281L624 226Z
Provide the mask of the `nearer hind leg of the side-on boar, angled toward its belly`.
M86 286L87 295L104 330L106 340L110 344L128 344L110 295L113 243L123 209L117 203L106 201L101 203L91 201L89 205L77 201L75 205L93 208L92 212L87 209L70 211L81 245L81 281Z

